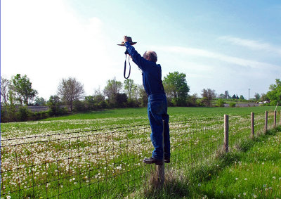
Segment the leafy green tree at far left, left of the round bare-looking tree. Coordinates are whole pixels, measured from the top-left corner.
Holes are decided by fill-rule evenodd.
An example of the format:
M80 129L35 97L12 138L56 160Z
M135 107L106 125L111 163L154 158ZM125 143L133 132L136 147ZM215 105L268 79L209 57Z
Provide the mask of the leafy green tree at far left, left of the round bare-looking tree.
M32 99L38 94L37 90L32 89L32 83L27 75L21 77L20 74L17 74L12 78L12 82L16 93L16 99L21 105L22 103L28 105L28 102L32 101Z

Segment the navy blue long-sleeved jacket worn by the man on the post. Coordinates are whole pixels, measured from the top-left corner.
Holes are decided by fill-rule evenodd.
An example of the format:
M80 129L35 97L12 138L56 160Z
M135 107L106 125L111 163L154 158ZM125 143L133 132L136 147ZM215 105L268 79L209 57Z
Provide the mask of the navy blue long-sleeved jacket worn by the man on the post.
M143 58L128 41L125 43L125 46L131 58L133 58L133 62L143 71L143 86L145 87L146 94L148 96L164 94L161 65Z

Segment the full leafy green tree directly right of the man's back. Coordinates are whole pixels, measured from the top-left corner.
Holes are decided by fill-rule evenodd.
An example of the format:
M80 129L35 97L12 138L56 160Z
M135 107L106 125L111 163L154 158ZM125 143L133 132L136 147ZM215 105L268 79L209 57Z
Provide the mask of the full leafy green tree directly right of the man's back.
M164 77L163 84L168 98L172 98L174 105L185 104L190 88L185 79L186 75L180 72L169 72Z

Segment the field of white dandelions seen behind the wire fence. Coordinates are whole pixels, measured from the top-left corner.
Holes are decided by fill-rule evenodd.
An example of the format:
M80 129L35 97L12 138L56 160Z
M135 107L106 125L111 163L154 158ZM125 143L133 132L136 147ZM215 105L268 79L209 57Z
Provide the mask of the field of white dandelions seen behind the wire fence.
M266 108L254 110L255 129L262 130ZM196 167L223 146L223 115L208 111L170 113L169 167ZM251 133L249 110L235 111L230 150ZM150 169L142 162L152 152L147 120L143 114L1 124L1 198L126 197Z

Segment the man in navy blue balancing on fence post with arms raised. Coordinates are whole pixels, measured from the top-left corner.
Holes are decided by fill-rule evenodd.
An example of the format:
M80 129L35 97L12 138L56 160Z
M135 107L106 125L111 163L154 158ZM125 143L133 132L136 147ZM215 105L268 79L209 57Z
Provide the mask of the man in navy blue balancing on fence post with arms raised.
M148 119L152 131L150 138L155 148L152 152L152 157L145 158L143 162L146 164L163 165L164 162L170 162L170 136L166 94L161 79L161 65L156 63L157 54L154 51L145 51L142 57L131 46L130 42L128 37L124 36L124 44L129 55L143 72L143 86L146 94L148 94ZM162 120L164 120L164 151Z

